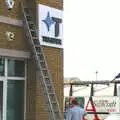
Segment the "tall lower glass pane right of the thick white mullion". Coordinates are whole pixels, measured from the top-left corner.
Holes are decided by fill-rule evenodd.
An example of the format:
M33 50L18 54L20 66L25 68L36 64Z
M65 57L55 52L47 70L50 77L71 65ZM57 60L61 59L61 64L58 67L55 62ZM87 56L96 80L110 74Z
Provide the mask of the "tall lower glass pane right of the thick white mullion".
M24 81L8 80L7 120L24 119Z

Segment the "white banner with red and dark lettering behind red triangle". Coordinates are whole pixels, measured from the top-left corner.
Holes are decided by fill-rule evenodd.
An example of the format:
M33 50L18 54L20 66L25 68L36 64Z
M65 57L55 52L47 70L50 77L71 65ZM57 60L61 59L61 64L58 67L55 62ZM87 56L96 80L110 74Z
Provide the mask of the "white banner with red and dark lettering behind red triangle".
M120 99L113 96L93 96L93 105L96 112L119 112ZM89 101L89 97L85 97L85 102ZM92 104L89 103L87 109L92 109Z

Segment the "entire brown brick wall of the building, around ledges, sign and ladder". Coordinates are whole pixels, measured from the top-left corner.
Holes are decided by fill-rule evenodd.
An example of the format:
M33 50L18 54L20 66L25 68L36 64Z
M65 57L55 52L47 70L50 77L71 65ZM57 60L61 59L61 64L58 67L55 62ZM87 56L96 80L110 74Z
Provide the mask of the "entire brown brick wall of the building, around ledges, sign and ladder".
M62 9L62 0L21 0L33 10L34 21L36 21L36 5L38 3L48 5L54 8ZM21 10L19 0L15 0L15 6L9 11L4 3L0 1L0 16L21 20ZM7 41L5 32L15 33L14 41ZM0 48L29 51L29 45L24 37L23 27L5 24L0 22ZM52 47L43 47L48 68L52 76L53 86L57 93L61 110L63 111L63 49ZM27 64L26 81L26 120L48 120L45 111L42 90L39 80L36 78L36 67L32 59Z

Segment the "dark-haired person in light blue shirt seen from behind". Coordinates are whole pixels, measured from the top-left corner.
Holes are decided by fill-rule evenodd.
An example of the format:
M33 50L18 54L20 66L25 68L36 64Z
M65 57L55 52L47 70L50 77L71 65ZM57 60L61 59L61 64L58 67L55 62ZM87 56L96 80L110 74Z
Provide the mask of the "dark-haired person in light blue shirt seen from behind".
M67 111L66 120L83 120L83 116L86 115L85 110L80 108L76 99L72 100L71 104L73 107Z

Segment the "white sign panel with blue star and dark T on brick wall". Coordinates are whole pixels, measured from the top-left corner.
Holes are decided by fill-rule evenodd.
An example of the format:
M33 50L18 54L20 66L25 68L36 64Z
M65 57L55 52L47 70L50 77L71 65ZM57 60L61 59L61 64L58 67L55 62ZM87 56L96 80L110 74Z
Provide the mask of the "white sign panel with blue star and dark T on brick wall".
M38 5L38 28L41 45L62 48L63 16L62 10Z

